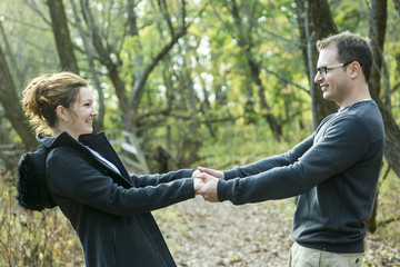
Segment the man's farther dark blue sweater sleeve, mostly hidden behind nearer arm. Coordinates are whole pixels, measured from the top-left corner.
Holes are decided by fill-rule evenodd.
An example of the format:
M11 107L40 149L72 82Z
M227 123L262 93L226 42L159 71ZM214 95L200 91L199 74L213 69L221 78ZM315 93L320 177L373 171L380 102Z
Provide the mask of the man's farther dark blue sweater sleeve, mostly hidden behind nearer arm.
M223 171L224 180L230 180L233 178L243 178L253 175L258 175L270 170L276 167L289 166L296 162L311 146L313 141L313 135L298 144L293 149L286 154L271 156L264 159L261 159L254 164L247 166L236 166L231 170Z

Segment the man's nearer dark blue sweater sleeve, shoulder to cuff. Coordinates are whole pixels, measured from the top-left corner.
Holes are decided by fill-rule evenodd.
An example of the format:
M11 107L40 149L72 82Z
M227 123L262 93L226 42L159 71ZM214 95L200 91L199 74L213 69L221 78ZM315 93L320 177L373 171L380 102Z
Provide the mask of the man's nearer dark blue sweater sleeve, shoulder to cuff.
M219 180L218 198L239 205L298 196L353 165L366 152L369 139L370 132L362 121L338 120L293 164L260 167L266 171Z

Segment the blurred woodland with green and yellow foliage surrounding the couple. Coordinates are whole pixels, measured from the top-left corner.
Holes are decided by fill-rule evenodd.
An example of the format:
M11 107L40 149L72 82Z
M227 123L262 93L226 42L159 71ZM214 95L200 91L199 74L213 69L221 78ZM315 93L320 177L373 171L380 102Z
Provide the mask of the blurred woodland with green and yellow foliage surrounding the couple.
M38 145L20 105L30 78L68 70L87 79L98 101L96 128L132 172L224 169L287 151L337 111L313 83L316 42L349 30L371 39L370 90L387 132L367 221L384 248L364 265L398 266L399 22L400 0L2 0L0 265L82 264L57 209L27 212L14 200L18 160ZM177 212L166 210L159 220ZM228 260L234 263L249 266Z

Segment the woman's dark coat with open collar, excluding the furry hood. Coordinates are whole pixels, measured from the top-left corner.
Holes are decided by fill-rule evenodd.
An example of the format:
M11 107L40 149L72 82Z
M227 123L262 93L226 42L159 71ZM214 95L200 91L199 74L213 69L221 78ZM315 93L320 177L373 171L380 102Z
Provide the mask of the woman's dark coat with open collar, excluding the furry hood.
M87 266L176 266L150 211L193 198L192 170L129 176L103 134L81 136L80 142L67 132L40 141L51 148L49 192L76 229Z

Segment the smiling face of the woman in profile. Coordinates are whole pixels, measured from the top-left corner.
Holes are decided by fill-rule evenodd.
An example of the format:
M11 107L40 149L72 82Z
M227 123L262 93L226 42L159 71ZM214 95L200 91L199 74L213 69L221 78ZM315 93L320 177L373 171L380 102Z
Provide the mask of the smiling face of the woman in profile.
M93 131L93 119L99 112L94 107L94 99L87 87L81 87L76 101L67 110L66 131L78 140L80 135Z

